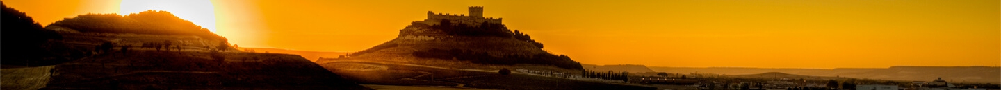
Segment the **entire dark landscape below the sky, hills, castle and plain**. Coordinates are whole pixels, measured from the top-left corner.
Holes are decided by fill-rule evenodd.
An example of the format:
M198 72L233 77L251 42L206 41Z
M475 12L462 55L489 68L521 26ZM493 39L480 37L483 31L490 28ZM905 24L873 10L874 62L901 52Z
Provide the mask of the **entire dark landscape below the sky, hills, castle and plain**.
M36 12L0 5L3 90L1001 90L997 66L582 63L582 56L551 51L559 47L554 43L544 47L541 39L554 37L533 38L528 33L539 32L514 30L503 18L483 16L488 12L483 6L465 7L465 14L429 10L388 41L357 51L320 51L239 47L244 44L168 11L89 13L43 27L26 14ZM575 31L542 34L552 32ZM681 61L651 62L686 63Z

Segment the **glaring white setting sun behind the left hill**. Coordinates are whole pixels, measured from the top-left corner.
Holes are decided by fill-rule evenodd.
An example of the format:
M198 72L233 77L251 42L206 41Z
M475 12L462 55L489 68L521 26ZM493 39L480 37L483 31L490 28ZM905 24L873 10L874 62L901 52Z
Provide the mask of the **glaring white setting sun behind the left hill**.
M147 10L167 11L215 32L215 11L209 0L122 0L120 15Z

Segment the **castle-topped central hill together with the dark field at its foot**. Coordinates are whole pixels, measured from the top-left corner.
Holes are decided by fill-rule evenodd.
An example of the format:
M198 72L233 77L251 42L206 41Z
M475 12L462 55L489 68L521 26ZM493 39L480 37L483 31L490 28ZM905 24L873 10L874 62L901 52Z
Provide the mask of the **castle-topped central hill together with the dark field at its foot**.
M481 11L481 7L469 8L470 13ZM508 29L500 19L469 15L428 12L428 19L411 22L393 40L348 53L346 58L320 58L316 63L360 84L514 90L657 89L577 79L572 75L582 74L584 68L569 56L544 51L542 43Z

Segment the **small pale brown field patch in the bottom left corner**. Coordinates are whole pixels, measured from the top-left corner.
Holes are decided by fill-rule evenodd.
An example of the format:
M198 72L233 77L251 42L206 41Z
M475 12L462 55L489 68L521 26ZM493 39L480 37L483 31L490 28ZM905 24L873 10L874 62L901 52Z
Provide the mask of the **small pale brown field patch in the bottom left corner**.
M55 66L0 69L2 90L35 90L45 87L52 79L49 72Z

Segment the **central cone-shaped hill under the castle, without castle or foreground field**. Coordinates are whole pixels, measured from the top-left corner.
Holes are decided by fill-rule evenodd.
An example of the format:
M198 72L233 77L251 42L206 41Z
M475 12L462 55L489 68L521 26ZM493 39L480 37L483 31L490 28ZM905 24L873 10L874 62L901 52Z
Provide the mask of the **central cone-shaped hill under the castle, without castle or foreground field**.
M349 53L347 59L456 68L526 64L583 69L569 56L546 52L542 50L542 43L520 31L513 32L504 24L484 22L474 26L442 21L441 24L413 22L400 30L395 39ZM462 63L475 65L463 66Z

